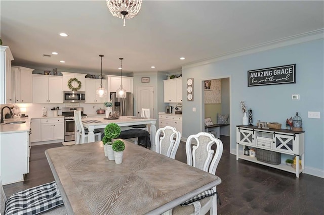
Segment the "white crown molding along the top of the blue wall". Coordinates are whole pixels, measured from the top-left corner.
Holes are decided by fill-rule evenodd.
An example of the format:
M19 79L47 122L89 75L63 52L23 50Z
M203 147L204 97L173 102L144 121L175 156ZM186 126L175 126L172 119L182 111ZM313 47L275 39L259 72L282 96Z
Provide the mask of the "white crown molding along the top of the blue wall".
M252 53L260 52L260 51L266 51L274 48L309 42L313 40L319 40L324 38L324 29L318 29L315 31L310 31L302 34L297 34L290 37L285 37L277 40L272 40L269 42L261 43L258 45L253 45L247 48L237 49L231 52L223 53L219 56L214 56L211 58L191 62L189 64L185 64L182 66L182 69L191 68L191 67L197 67L202 66L206 64L210 64L217 61L222 61L230 58L235 58L239 56L244 55L250 55Z

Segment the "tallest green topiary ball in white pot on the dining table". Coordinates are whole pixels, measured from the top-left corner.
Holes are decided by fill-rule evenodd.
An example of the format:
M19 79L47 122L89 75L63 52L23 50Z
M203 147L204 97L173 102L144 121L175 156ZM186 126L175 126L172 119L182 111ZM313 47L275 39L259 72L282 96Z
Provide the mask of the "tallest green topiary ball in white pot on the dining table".
M114 153L112 150L113 139L117 138L120 134L120 127L116 123L110 123L105 127L105 136L102 138L104 147L107 150L108 160L114 160Z

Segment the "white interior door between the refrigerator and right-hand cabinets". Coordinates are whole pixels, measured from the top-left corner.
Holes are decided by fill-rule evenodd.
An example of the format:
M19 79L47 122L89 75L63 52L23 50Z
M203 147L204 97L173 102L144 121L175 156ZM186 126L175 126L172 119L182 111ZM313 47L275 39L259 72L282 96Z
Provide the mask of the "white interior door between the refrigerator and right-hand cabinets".
M136 116L141 116L142 108L150 109L150 118L154 116L154 87L137 87Z

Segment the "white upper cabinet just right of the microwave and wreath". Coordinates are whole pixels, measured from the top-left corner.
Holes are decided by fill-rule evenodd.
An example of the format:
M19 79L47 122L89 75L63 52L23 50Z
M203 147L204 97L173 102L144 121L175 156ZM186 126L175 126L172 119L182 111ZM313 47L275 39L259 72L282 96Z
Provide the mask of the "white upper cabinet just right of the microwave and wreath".
M102 80L102 86L106 88L106 81ZM107 101L106 97L97 97L96 90L101 84L101 79L86 78L86 103L104 103ZM108 96L109 97L109 96Z

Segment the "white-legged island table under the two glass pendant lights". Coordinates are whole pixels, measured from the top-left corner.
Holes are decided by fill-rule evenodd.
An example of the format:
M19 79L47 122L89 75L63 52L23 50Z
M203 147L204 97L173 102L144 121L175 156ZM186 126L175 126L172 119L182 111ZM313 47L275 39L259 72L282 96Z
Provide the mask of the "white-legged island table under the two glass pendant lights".
M107 118L87 118L82 120L82 124L89 130L88 142L95 141L94 130L98 128L105 128L110 123L116 123L120 127L123 126L133 126L133 125L149 125L150 127L150 140L151 145L155 145L155 133L156 133L156 119L134 117L134 116L120 116L117 119L107 119Z

